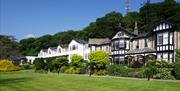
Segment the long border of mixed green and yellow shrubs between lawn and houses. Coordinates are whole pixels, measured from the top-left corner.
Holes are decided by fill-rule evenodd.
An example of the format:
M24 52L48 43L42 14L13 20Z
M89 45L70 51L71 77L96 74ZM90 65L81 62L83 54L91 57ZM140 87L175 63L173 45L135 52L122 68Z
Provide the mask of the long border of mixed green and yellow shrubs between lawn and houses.
M35 73L64 73L64 74L86 74L94 76L119 76L133 78L147 78L147 80L180 79L179 54L176 55L175 63L165 61L149 60L143 67L134 68L123 64L109 64L109 57L104 51L93 51L89 54L89 62L83 60L81 55L73 55L71 62L67 57L37 58L34 64L24 63L16 66L8 60L0 61L0 71L18 71L32 69Z

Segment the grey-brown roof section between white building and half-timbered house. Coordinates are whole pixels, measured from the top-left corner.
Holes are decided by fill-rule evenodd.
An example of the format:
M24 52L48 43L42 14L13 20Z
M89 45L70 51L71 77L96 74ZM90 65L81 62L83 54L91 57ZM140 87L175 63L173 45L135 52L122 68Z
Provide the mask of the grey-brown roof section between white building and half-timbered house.
M90 38L88 41L88 44L95 44L95 45L101 45L101 44L109 44L110 43L109 38Z

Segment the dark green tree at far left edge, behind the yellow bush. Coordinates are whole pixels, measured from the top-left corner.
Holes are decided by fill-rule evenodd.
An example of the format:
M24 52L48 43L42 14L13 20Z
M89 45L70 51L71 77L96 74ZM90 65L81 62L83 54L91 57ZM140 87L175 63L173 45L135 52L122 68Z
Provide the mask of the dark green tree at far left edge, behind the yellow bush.
M13 36L0 35L0 59L14 60L20 56L18 43Z

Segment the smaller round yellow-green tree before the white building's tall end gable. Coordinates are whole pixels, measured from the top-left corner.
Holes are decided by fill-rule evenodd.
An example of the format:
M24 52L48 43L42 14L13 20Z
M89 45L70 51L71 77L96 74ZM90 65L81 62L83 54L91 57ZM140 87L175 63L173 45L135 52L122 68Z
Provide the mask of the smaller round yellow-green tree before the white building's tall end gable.
M71 57L71 64L73 66L80 66L83 62L83 57L81 55L77 55L77 54L74 54L72 57Z

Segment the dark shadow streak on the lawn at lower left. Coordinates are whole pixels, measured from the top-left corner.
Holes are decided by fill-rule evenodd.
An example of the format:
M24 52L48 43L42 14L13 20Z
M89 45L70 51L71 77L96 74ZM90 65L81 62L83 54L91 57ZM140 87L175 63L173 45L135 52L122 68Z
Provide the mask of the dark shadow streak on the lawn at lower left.
M26 82L26 81L30 81L30 80L32 80L32 78L30 78L30 77L0 79L0 85L16 84L19 82Z

